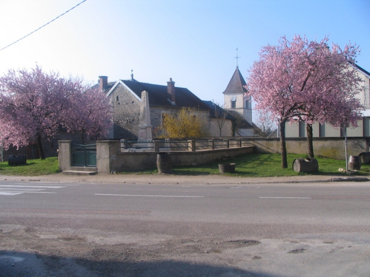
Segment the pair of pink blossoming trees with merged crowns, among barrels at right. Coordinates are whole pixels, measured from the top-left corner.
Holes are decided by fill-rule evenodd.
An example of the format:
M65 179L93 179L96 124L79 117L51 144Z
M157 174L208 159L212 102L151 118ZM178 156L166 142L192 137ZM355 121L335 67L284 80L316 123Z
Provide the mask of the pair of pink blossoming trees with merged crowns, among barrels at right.
M320 43L308 42L298 35L289 42L281 37L278 46L262 48L260 60L250 70L248 95L253 97L255 108L270 111L279 123L282 168L287 168L286 122L305 120L311 127L312 148L312 123L331 123L335 118L342 122L344 117L353 118L354 123L358 115L341 112L349 103L356 103L359 80L348 61L354 59L357 48L349 45L342 51L333 45L329 50L327 41L325 37ZM353 106L353 110L359 109L359 103Z

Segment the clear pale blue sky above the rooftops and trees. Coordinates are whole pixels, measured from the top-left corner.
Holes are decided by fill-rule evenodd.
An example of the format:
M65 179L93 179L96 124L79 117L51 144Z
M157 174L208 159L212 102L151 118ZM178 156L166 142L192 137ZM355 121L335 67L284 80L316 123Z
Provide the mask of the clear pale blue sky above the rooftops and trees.
M83 0L0 0L0 49ZM222 103L235 71L295 34L359 46L370 71L370 0L86 0L0 51L0 75L37 65L96 84L128 79L188 88ZM238 52L236 49L238 48ZM235 57L239 57L236 59Z

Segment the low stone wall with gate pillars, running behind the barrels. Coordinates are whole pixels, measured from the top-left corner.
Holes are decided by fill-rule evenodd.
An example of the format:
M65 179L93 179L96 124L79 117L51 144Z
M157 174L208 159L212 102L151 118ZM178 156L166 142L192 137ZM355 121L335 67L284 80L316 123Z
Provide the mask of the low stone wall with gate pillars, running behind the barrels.
M196 145L195 141L189 144ZM227 145L229 143L229 148ZM344 138L314 138L313 147L315 156L324 156L331 159L345 160ZM220 161L227 157L247 153L280 153L279 138L243 138L240 140L225 140L225 148L212 149L212 140L203 141L195 146L186 147L189 151L170 151L173 166L201 165ZM348 138L348 156L358 155L369 151L370 138ZM208 149L206 149L208 148ZM287 138L287 153L297 153L307 156L306 138ZM169 149L169 148L168 148ZM124 151L117 140L97 141L96 163L98 173L110 173L132 169L155 168L159 151ZM59 167L62 171L71 169L70 141L59 141Z

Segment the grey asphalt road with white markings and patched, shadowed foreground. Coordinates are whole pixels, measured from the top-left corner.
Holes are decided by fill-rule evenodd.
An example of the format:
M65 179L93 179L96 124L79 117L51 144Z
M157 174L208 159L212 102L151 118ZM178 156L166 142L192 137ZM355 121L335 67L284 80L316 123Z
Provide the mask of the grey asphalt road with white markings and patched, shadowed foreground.
M370 276L370 182L0 181L0 276Z

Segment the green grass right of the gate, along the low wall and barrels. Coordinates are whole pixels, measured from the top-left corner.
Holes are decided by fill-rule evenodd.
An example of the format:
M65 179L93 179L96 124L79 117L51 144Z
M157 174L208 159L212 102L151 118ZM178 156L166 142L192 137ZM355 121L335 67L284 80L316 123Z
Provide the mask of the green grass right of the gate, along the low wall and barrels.
M172 167L174 175L209 175L220 174L218 170L219 163L235 163L235 173L227 173L227 176L242 176L242 177L271 177L271 176L299 176L299 175L337 175L348 176L348 174L339 172L339 168L346 168L346 162L343 160L326 159L324 157L316 157L319 164L319 171L315 173L298 173L293 171L292 164L294 159L305 157L301 154L288 154L288 168L281 168L280 154L246 154L233 157L231 159L209 163L199 166L176 166ZM157 169L125 171L122 174L137 173L137 174L157 174ZM370 175L370 165L362 165L361 170L355 172L355 176Z

